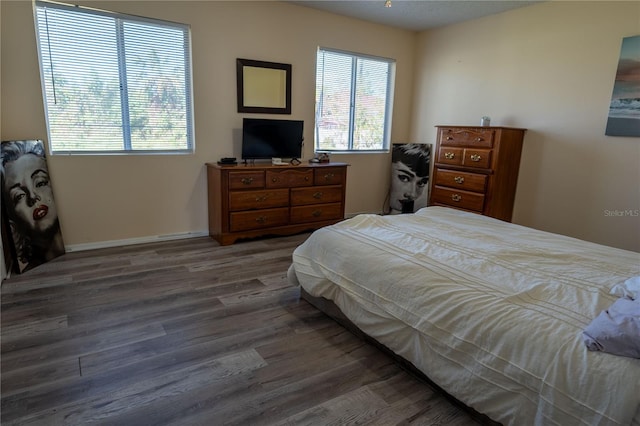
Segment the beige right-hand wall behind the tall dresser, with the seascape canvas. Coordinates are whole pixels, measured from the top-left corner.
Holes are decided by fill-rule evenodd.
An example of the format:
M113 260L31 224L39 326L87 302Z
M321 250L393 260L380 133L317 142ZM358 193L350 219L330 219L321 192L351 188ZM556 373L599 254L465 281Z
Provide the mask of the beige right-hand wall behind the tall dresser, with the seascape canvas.
M412 135L524 127L514 222L640 251L640 138L604 135L639 2L552 1L421 33Z

